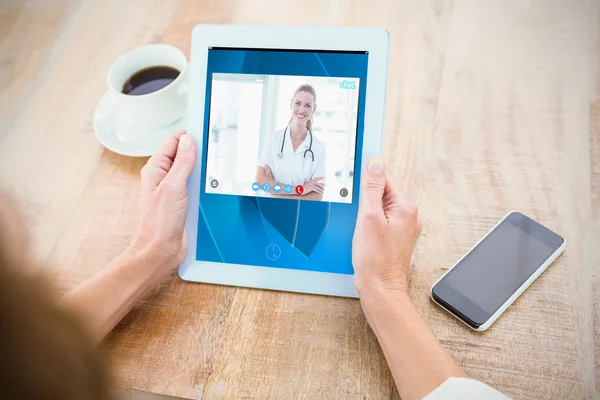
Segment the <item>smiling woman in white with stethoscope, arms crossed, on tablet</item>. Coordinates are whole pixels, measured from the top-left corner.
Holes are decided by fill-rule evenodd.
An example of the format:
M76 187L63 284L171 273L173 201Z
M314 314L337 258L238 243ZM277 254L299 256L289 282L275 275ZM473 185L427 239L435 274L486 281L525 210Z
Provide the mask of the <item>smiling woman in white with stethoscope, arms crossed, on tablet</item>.
M279 184L279 194L302 195L322 200L325 191L325 146L313 136L317 93L300 85L290 102L288 126L273 132L263 145L256 168L256 181L270 188ZM286 186L293 190L283 190ZM303 190L296 190L302 186Z

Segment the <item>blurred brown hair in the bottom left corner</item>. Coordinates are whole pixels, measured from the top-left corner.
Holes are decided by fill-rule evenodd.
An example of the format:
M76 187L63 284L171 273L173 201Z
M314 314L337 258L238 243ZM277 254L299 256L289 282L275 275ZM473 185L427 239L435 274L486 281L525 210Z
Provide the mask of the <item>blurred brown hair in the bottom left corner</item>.
M7 231L10 224L2 214L0 398L111 399L100 352L79 321L59 306L48 282L27 265L24 249L10 248L9 235L15 233Z

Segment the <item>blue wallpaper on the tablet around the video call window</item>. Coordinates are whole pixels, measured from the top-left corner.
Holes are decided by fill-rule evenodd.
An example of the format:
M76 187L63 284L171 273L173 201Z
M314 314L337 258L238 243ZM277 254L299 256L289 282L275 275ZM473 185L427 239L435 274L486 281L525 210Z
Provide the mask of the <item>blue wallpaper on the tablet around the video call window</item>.
M360 78L356 165L351 204L205 193L200 186L196 259L352 274L358 212L368 54L363 52L209 49L206 99L213 73ZM210 104L204 109L206 179Z

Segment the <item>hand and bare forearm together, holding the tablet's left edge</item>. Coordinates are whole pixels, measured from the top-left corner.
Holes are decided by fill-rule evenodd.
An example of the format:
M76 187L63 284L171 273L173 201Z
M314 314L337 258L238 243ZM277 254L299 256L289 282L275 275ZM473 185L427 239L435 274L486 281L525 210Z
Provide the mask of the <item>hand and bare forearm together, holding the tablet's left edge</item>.
M102 340L183 260L185 185L195 158L194 142L185 132L164 141L142 168L142 219L129 248L63 299L81 314L95 341Z

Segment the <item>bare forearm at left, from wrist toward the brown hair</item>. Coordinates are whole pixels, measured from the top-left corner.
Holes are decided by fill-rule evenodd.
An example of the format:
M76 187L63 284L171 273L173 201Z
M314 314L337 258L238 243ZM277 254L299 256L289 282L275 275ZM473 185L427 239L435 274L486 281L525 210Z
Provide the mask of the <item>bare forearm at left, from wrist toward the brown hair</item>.
M64 297L65 305L84 319L94 341L104 339L164 279L166 269L157 268L151 259L146 250L127 250Z

